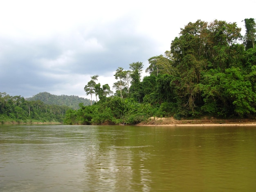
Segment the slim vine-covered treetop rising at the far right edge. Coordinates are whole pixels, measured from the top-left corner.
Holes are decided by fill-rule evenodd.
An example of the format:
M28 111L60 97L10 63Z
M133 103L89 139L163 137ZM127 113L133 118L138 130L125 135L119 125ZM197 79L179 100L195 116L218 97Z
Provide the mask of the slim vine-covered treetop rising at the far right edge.
M255 39L256 39L256 23L253 18L245 19L245 39L244 45L245 49L250 49L255 47Z

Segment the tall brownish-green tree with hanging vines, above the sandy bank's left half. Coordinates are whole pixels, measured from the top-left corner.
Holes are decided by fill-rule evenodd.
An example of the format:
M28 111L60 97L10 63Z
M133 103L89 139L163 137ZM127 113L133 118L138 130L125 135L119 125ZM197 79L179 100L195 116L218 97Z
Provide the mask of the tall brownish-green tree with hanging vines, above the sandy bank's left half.
M171 85L175 87L175 95L181 114L193 114L195 100L200 100L197 85L200 83L201 71L205 69L207 22L197 20L189 22L171 43L173 66L177 75Z

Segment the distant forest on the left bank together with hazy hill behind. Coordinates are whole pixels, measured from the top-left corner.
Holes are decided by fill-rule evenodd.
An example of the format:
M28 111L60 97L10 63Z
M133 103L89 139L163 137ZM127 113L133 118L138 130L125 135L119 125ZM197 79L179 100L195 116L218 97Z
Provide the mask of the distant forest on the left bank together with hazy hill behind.
M66 111L78 109L79 103L90 105L90 100L47 92L26 99L0 93L0 123L63 123Z

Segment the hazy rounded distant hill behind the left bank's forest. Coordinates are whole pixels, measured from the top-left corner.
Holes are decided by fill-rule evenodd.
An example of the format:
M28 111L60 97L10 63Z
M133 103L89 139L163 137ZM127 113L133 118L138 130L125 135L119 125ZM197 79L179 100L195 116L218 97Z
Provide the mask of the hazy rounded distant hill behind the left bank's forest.
M48 92L41 92L33 97L26 98L26 100L40 100L45 104L49 105L65 105L71 107L72 109L79 109L79 103L83 105L91 105L91 101L87 98L82 98L79 96L67 96L67 95L52 95ZM92 101L94 103L95 101Z

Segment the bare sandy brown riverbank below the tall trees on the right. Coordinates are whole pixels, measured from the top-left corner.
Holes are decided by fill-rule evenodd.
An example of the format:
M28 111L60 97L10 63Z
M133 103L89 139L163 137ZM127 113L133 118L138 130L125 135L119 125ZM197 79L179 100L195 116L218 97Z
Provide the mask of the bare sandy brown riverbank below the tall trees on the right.
M148 121L137 126L256 126L256 120L251 119L183 119L176 120L173 117L150 117Z

